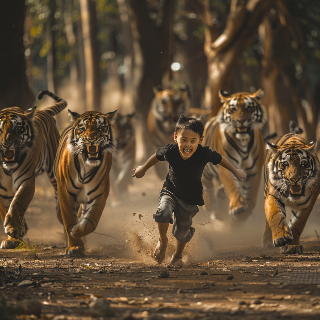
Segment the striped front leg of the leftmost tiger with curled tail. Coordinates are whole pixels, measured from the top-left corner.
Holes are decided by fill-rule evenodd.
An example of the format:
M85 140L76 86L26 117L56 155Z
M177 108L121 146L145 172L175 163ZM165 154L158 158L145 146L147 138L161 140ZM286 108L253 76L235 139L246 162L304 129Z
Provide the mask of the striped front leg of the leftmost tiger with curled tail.
M18 239L28 230L24 214L35 193L35 175L24 181L15 193L9 210L4 217L4 231L8 239L2 241L1 249L14 249L19 245Z

